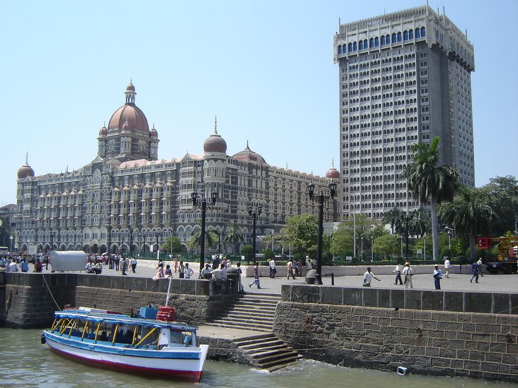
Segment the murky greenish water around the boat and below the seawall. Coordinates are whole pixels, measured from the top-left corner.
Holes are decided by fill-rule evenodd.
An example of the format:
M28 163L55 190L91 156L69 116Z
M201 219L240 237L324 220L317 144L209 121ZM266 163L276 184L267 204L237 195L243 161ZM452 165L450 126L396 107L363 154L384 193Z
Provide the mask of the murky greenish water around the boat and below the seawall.
M314 388L363 387L436 388L509 387L518 384L484 382L467 378L398 376L394 372L343 368L302 360L296 366L273 373L247 365L208 360L197 384L149 379L115 371L96 369L66 360L40 343L41 330L0 329L0 386L41 388L142 388L142 387L247 387Z

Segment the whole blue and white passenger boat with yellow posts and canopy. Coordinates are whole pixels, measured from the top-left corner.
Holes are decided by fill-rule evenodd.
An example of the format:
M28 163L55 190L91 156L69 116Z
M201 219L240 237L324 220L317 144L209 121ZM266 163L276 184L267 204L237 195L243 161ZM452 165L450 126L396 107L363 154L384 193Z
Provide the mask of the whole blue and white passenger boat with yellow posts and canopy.
M198 382L209 349L197 344L198 327L175 322L172 307L161 307L158 316L156 309L146 309L138 317L85 307L55 311L41 342L94 367Z

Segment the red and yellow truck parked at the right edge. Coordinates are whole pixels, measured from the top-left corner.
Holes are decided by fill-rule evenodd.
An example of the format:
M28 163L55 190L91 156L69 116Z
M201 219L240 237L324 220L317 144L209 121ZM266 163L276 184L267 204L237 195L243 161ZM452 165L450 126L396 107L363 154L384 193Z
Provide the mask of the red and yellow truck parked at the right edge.
M496 275L500 271L505 274L515 274L518 270L516 263L518 236L478 237L477 245L480 249L491 249L498 245L498 257L485 263L486 270L490 274Z

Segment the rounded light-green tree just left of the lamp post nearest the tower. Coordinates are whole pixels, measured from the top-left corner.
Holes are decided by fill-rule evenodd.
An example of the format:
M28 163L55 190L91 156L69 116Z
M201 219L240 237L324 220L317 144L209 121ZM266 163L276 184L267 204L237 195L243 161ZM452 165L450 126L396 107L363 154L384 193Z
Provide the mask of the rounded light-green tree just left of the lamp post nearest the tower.
M316 245L318 220L314 214L305 213L289 217L285 229L294 249L304 256Z

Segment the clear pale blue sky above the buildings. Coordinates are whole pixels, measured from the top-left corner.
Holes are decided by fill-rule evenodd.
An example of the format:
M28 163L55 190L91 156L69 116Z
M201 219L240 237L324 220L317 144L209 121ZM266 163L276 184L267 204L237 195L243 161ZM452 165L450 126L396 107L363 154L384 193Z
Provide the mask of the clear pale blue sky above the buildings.
M16 172L79 168L95 158L103 123L136 102L155 123L159 158L202 153L212 132L227 154L247 140L270 165L323 175L339 158L342 23L425 2L1 2L3 116L0 202L16 200ZM516 174L515 37L518 2L446 1L474 44L476 185Z

